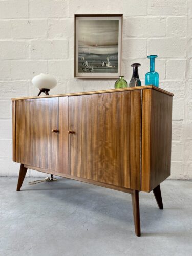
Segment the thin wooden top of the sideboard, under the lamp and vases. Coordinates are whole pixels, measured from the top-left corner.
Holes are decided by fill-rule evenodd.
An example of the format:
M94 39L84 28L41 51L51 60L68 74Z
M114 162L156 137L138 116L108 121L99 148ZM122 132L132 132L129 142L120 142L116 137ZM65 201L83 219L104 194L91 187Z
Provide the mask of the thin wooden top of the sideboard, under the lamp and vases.
M22 97L22 98L13 98L12 100L21 100L21 99L39 99L39 98L53 98L53 97L63 97L63 96L77 96L77 95L89 95L89 94L99 94L99 93L113 93L113 92L122 92L122 91L132 91L132 90L146 90L153 89L161 93L165 93L170 96L174 96L173 93L167 92L161 88L155 86L138 86L138 87L129 87L122 89L109 89L102 91L92 91L92 92L80 92L80 93L67 93L67 94L58 94L58 95L46 95L46 96L32 96L32 97Z

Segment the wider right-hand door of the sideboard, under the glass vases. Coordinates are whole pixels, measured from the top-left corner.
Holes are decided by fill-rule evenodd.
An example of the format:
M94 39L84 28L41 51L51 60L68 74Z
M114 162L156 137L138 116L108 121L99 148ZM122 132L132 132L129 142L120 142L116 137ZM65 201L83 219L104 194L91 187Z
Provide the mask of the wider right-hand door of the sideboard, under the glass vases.
M69 97L68 172L140 189L141 90Z

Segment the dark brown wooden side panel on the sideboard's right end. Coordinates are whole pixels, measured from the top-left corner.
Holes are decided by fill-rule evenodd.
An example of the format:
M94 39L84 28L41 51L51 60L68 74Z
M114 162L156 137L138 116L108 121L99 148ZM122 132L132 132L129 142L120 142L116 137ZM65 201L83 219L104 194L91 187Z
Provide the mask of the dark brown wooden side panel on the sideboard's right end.
M172 96L152 90L150 190L170 175Z

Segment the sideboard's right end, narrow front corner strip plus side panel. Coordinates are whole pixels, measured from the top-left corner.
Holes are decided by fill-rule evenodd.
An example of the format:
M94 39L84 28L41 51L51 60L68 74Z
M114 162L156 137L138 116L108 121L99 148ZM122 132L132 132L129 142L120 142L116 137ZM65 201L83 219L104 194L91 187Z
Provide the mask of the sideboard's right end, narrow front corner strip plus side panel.
M170 175L172 96L143 91L141 190L151 191Z

